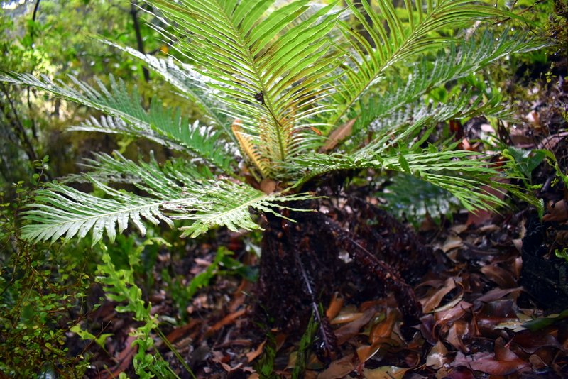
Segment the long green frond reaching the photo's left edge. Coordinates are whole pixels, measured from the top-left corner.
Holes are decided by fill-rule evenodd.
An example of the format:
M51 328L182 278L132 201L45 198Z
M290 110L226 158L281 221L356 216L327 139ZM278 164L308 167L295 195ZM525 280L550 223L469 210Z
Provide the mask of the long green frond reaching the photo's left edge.
M0 81L42 89L62 99L99 109L112 117L104 117L101 121L91 119L86 125L75 127L75 130L126 132L133 136L149 138L168 147L177 146L212 166L228 167L226 142L219 131L200 126L197 121L190 124L187 117L182 116L180 109L169 111L158 99L153 99L150 109L146 111L136 89L129 92L124 82L116 81L112 76L109 89L96 80L98 90L75 77L70 76L70 79L73 84L53 82L45 75L41 78L28 74L0 75Z

